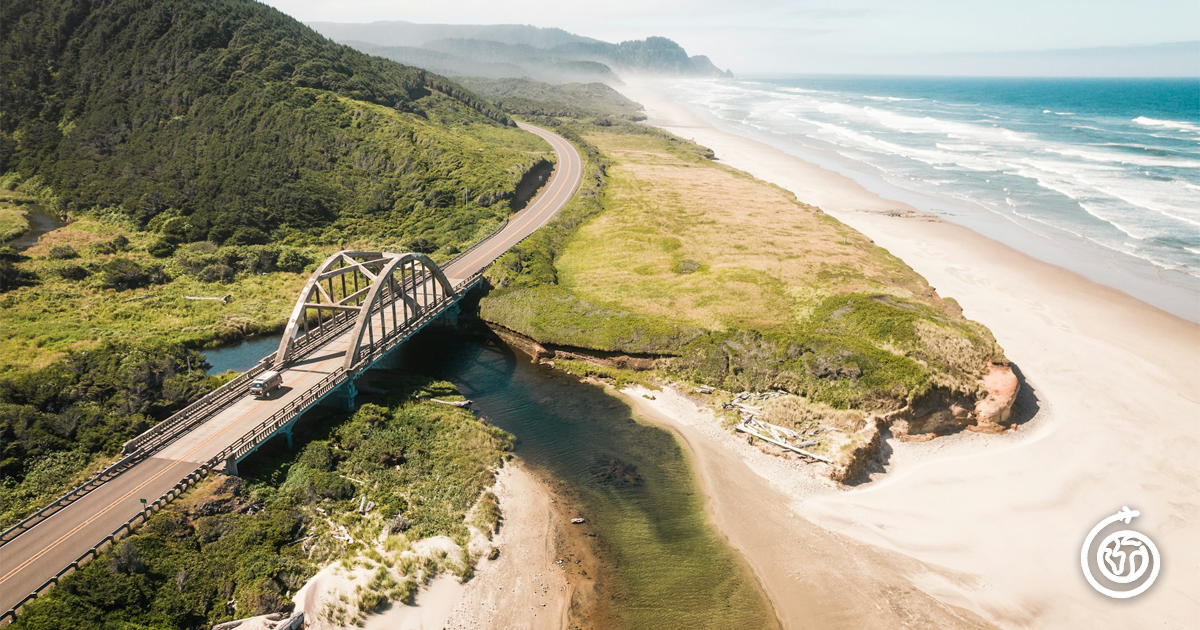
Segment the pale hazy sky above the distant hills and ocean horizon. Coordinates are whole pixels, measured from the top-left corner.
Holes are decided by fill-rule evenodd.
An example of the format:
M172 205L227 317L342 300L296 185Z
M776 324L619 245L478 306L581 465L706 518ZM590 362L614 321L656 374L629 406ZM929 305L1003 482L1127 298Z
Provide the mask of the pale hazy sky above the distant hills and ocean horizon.
M1200 40L1198 0L266 0L301 22L533 24L661 35L737 73L953 67L955 54ZM1200 55L1200 53L1198 53ZM1193 60L1200 68L1200 56ZM943 67L940 67L943 66Z

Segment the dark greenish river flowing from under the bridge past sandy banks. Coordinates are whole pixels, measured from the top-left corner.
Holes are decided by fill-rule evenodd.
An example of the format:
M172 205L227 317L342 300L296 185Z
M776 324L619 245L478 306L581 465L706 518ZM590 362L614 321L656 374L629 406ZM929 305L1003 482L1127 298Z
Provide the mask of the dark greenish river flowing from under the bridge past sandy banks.
M600 628L776 628L744 559L710 523L688 452L602 388L535 365L498 340L431 331L396 367L452 382L516 455L586 520L599 565L583 612ZM592 538L594 535L594 538Z

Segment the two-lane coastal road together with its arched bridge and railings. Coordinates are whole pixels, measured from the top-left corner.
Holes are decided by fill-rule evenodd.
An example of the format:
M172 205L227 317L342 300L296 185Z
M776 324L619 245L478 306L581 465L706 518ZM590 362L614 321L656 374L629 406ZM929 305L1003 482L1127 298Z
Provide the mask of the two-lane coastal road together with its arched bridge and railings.
M0 532L0 625L205 475L236 474L238 462L272 436L290 444L294 424L313 406L353 406L354 382L365 370L436 318L454 317L482 271L551 221L583 181L583 156L565 138L517 125L558 157L526 209L440 269L416 253L331 256L308 278L276 352L128 440L112 466ZM283 386L265 398L251 395L251 382L266 371L281 372Z

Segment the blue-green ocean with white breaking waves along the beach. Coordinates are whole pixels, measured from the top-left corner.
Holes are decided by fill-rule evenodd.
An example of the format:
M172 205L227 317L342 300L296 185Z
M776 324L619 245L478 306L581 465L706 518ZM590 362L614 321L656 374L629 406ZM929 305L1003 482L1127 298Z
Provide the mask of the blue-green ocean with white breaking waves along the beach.
M727 131L1200 318L1200 79L686 80Z

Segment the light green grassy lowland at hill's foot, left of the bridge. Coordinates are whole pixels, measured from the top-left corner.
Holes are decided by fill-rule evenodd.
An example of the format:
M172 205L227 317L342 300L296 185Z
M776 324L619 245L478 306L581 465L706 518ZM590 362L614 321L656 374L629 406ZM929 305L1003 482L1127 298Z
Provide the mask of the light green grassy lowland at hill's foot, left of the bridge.
M119 238L127 245L109 247ZM47 233L25 251L28 259L18 266L37 280L0 295L0 373L44 367L68 350L104 342L154 337L204 347L271 331L287 319L305 282L302 272L287 271L241 272L229 282L205 282L182 268L181 256L146 253L154 239L115 222L88 218ZM311 247L298 248L295 256L307 263L319 254ZM166 281L108 287L107 268L114 260L162 266ZM223 295L233 296L229 304L186 299Z

